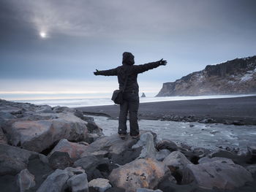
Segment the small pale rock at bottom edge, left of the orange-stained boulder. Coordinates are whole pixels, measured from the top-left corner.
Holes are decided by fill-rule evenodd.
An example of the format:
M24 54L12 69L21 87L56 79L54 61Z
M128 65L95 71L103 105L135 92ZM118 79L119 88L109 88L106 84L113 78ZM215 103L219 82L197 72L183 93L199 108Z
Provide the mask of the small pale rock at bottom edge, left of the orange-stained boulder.
M109 180L98 178L95 180L91 180L89 182L89 189L90 191L97 191L97 192L105 192L112 186L109 183Z

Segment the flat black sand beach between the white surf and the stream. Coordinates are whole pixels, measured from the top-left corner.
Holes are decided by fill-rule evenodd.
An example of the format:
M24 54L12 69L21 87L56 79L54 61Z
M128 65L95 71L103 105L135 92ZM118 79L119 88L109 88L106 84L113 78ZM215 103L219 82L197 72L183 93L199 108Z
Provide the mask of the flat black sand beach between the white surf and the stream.
M85 114L118 118L118 105L78 107ZM140 104L140 119L256 125L256 96Z

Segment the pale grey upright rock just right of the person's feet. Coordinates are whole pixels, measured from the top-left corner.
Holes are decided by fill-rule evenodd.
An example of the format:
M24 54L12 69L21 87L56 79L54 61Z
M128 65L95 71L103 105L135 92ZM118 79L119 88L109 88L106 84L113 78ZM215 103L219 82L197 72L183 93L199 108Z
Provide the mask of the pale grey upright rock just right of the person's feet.
M132 149L142 147L138 158L156 158L157 151L154 147L154 137L150 132L140 135L140 140L132 146Z

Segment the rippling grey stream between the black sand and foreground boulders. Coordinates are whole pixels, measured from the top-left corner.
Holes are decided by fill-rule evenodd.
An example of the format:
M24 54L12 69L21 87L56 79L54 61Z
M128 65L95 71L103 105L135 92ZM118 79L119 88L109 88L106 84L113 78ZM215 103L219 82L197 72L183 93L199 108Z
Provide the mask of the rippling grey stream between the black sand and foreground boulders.
M118 120L92 116L106 136L116 134ZM188 123L161 120L139 120L140 130L153 131L158 139L169 139L192 147L214 150L230 147L245 151L247 145L256 145L256 126L234 126L220 123ZM127 121L129 131L129 122Z

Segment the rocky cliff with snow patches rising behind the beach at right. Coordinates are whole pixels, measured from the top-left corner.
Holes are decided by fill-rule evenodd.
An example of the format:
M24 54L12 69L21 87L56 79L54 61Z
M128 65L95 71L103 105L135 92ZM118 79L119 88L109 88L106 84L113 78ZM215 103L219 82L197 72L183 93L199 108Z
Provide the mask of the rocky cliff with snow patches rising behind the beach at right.
M157 96L256 93L256 55L208 65L175 82L165 82Z

